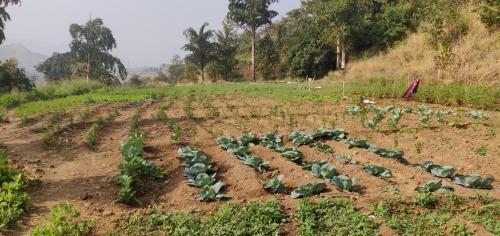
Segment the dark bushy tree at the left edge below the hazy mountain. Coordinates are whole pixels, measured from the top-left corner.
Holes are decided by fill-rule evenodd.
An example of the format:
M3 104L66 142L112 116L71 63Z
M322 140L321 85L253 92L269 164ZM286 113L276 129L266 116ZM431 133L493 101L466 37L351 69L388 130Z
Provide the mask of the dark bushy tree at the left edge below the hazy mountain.
M24 69L17 67L15 60L0 63L0 93L10 93L14 89L29 91L34 87L33 81L26 76Z

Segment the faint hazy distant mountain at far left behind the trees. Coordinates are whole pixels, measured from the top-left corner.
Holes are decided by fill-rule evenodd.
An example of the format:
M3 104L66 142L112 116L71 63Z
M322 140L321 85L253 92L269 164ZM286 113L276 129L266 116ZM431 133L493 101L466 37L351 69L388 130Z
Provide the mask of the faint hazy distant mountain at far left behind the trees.
M15 58L19 66L26 70L26 74L35 75L41 79L41 74L35 66L49 58L46 55L33 52L20 44L0 45L0 61Z

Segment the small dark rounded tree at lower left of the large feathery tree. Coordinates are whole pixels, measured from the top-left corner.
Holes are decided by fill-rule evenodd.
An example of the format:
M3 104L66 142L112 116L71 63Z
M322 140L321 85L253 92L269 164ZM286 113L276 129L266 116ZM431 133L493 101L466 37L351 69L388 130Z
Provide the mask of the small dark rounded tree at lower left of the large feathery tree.
M71 78L72 66L71 53L54 53L52 57L37 65L36 70L43 73L48 81L59 81Z

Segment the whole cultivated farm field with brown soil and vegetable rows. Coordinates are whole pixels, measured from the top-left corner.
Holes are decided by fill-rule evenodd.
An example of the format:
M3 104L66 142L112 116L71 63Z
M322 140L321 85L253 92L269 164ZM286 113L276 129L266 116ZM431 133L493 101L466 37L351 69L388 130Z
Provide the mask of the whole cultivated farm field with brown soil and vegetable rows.
M96 235L500 234L498 111L273 86L285 92L165 87L19 105L0 147L32 180L31 207L5 234L30 234L64 203ZM210 168L196 172L194 156ZM223 186L193 186L200 173Z

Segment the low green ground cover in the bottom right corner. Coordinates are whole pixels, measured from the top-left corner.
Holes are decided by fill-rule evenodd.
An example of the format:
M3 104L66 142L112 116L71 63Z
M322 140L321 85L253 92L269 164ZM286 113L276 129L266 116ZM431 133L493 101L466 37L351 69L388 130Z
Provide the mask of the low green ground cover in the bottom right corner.
M382 201L370 209L399 235L448 235L449 229L451 233L456 231L456 235L464 235L470 230L456 223L464 220L481 224L495 235L500 234L499 201L465 199L448 192L438 197L432 209L427 208L426 204L402 199Z

